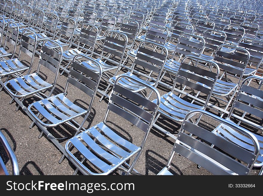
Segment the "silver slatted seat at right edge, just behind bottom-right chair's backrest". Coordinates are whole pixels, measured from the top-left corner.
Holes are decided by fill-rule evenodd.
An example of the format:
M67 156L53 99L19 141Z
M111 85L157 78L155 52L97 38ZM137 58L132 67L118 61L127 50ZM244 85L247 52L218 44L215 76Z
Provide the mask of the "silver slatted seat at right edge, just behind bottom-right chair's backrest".
M231 121L229 118L226 118L226 120ZM245 137L244 135L241 135L239 132L236 132L234 129L225 124L220 124L212 132L216 135L226 138L227 140L232 141L233 143L236 143L238 146L241 146L244 149L254 151L253 143L249 138ZM263 137L254 133L252 134L258 139L259 146L261 148L259 152L260 155L258 156L257 161L263 162Z

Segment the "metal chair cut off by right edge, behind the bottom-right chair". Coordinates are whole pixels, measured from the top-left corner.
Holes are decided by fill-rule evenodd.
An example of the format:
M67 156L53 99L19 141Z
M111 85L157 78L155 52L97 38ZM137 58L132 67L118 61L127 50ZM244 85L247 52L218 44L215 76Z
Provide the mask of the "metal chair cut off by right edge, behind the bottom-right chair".
M259 84L251 80L259 81ZM258 134L258 131L262 132L263 127L260 121L262 121L262 77L251 76L246 78L237 93L234 104L232 105L230 112L226 118L227 121L234 122L238 126L242 126L250 131L259 141L259 157L256 160L254 166L261 167L259 175L263 174L263 137ZM253 85L252 85L253 84ZM244 137L240 132L237 132L233 127L220 124L213 130L216 135L233 142L234 144L241 146L243 149L253 152L253 142L249 138Z

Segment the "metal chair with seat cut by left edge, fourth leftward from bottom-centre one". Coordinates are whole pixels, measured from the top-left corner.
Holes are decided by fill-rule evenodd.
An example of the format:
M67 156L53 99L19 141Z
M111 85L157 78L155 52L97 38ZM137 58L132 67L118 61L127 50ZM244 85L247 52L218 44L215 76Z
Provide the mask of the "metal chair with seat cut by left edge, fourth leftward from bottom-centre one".
M10 28L10 31L14 32L16 30ZM18 31L16 31L16 33L18 33ZM9 34L11 35L11 33L9 33L9 27L8 27L6 38L8 38ZM30 73L34 62L34 55L36 52L36 46L37 46L36 39L37 39L36 33L34 33L31 30L25 29L21 36L18 58L12 58L8 60L0 61L0 84L1 84L0 90L2 90L2 88L4 87L4 82L2 81L2 78L6 77L5 82L7 82L11 76L16 78L22 76L22 73L25 71L27 71L27 74ZM12 44L14 42L12 41L10 43ZM31 60L29 66L20 61L21 53L25 53L25 55L27 55Z

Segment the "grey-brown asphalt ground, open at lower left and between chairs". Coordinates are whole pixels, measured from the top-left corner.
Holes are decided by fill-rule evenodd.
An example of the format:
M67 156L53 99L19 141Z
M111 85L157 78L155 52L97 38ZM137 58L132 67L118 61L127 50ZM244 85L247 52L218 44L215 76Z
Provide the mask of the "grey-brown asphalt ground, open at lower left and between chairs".
M10 47L12 51L13 47ZM18 47L19 49L19 47ZM18 49L16 53L18 54ZM17 56L17 55L16 55ZM30 59L26 55L21 55L22 62L27 63ZM33 69L31 72L35 71L38 66L38 57L35 57ZM125 70L124 70L125 71ZM120 71L122 73L123 71ZM52 74L47 71L47 69L41 70L41 75L43 78L47 78L48 82L52 82ZM53 92L53 95L61 93L64 91L66 83L67 74L63 74L58 77L57 87ZM3 79L2 79L3 80ZM164 81L169 82L169 78L164 78ZM103 87L103 81L101 82L100 88ZM71 90L71 91L70 91ZM158 86L158 91L160 95L169 92L168 89ZM68 96L70 100L76 100L74 103L77 103L83 107L87 107L87 96L79 90L69 89ZM88 119L85 127L93 126L104 119L106 112L108 99L103 99L102 102L99 102L101 95L97 94L93 110L91 112L91 117ZM25 100L25 105L29 105L34 101L35 98L29 96ZM40 129L37 126L33 126L32 129L29 129L31 124L30 118L22 111L20 108L19 111L15 111L17 104L9 104L11 98L8 93L3 90L0 92L0 128L1 131L6 136L10 145L12 146L19 163L19 169L21 175L71 175L73 174L76 167L67 159L65 159L61 164L58 163L61 152L56 148L56 146L45 136L38 138L40 134ZM220 103L218 103L220 104ZM213 112L212 110L210 110ZM218 113L214 112L216 115ZM120 134L128 139L130 142L137 145L140 144L140 140L143 137L143 132L136 129L135 126L132 126L127 121L123 120L117 115L110 115L108 120L110 124L114 124L117 127L122 127L120 129ZM166 130L176 133L180 128L180 123L175 123L167 119L158 120ZM213 122L209 119L204 119L203 123L210 123L213 125ZM59 128L49 129L50 132L62 138L67 136L68 138L74 135L75 131L67 126L60 126ZM262 134L262 133L261 133ZM61 144L64 146L67 139L61 140ZM156 175L165 165L167 159L169 158L170 152L174 145L174 140L157 129L153 128L150 131L150 134L147 138L146 145L143 149L143 152L137 161L135 169L143 175ZM11 172L10 160L7 157L6 153L3 151L3 148L0 147L1 157L6 163L7 169ZM175 155L171 170L172 173L176 175L210 175L210 172L207 172L205 169L197 168L197 165L183 156ZM259 168L254 168L251 172L251 175L256 175L259 172ZM81 175L80 172L78 172ZM113 174L117 174L114 172Z

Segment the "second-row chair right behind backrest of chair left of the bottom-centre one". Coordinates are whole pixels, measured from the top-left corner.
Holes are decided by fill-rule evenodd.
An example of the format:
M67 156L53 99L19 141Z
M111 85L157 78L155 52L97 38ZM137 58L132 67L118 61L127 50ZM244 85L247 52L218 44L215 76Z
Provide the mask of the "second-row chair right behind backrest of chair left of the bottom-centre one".
M125 54L127 44L128 37L124 33L109 31L106 35L100 58L96 59L96 61L101 64L103 72L102 79L106 82L106 84L108 83L108 79L111 78L111 70L116 70L113 73L113 76L115 76L122 66L123 56ZM82 62L82 64L88 69L93 70L94 72L98 71L98 68L94 66L94 64L92 64L90 61L84 61ZM108 87L106 88L105 92L108 90ZM103 90L98 89L98 92L108 97L108 95L103 92ZM104 96L102 96L101 100Z

